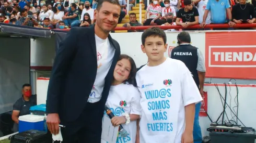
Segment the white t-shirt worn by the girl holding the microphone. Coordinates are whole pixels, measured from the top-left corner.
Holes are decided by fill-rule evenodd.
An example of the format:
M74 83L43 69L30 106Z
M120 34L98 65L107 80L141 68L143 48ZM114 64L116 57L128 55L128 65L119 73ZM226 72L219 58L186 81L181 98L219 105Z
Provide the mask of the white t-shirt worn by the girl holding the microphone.
M132 84L119 84L110 87L106 105L115 116L122 116L123 113L141 115L142 108L139 100L141 100L141 96L136 87ZM104 112L104 115L108 116L106 112ZM136 121L131 121L127 125L122 124L122 126L129 135L123 138L119 134L117 142L135 143L137 131ZM101 139L101 143L106 142Z

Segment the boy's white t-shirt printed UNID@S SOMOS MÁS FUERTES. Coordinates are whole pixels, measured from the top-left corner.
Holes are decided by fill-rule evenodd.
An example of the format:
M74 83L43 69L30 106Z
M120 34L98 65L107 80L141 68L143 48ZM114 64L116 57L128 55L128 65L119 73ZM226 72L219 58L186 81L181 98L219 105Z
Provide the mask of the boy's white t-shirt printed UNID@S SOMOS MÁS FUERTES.
M180 143L185 129L185 106L202 101L199 89L185 64L167 58L155 67L137 72L142 116L140 143Z

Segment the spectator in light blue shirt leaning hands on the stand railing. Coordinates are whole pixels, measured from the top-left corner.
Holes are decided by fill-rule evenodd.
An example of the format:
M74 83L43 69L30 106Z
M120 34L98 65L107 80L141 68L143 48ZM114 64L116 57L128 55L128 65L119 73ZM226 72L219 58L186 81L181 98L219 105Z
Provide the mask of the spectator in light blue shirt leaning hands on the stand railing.
M204 17L203 22L200 24L202 28L206 25L206 18L208 16L209 11L211 11L211 22L213 24L223 24L227 23L227 17L228 15L228 24L230 27L233 27L235 25L234 22L232 22L232 16L231 16L231 10L228 0L208 0L208 3L206 5L206 9L204 11ZM226 13L227 12L227 13ZM217 29L215 29L217 30ZM223 29L218 29L223 30Z

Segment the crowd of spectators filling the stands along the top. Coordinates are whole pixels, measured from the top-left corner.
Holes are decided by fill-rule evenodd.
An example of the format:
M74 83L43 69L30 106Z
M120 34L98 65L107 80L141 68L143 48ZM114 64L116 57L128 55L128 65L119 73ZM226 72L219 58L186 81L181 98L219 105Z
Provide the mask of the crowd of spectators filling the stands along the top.
M1 0L0 22L45 29L89 27L95 22L97 1ZM126 1L119 0L122 9L118 23L126 15ZM135 4L135 0L129 0L129 10L133 10ZM146 12L142 23L133 11L129 14L130 22L123 23L128 32L134 32L130 28L139 25L181 25L185 30L195 30L190 29L190 25L200 24L199 30L207 30L206 24L228 23L232 29L236 23L253 24L256 18L256 0L152 0L148 6L145 0L144 4Z

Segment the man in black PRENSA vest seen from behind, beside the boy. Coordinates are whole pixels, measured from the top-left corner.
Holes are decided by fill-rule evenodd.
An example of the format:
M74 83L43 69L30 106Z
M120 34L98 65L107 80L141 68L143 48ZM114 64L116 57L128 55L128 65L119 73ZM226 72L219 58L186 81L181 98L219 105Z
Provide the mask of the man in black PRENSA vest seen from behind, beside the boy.
M170 53L170 58L181 60L185 63L193 76L195 84L200 90L201 96L204 95L204 78L205 78L205 62L202 52L191 43L191 37L188 32L183 31L177 36L179 46L173 48ZM195 105L195 118L193 128L194 143L202 142L202 133L199 125L199 112L201 102Z

